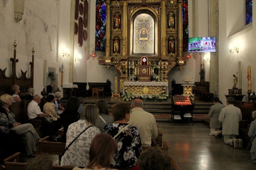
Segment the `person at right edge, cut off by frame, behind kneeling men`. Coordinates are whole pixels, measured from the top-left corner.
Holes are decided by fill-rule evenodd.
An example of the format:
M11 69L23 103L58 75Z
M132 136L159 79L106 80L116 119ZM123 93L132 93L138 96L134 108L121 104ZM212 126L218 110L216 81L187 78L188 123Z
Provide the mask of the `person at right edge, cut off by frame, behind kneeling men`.
M252 123L250 125L248 136L252 140L252 148L250 150L251 160L254 164L256 164L256 139L255 139L255 136L256 136L256 111L254 111L252 113L252 117L253 117L254 121L252 121Z

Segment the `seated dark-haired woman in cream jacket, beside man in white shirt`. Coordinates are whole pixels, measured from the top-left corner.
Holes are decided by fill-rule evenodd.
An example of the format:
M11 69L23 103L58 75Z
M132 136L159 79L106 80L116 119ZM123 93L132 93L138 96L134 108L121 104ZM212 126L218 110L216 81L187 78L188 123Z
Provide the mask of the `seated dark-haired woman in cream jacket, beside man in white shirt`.
M55 105L53 104L54 98L55 97L53 95L48 95L46 97L47 102L44 104L43 112L44 114L49 113L49 119L54 123L54 133L57 133L58 129L62 127L62 121L56 112Z

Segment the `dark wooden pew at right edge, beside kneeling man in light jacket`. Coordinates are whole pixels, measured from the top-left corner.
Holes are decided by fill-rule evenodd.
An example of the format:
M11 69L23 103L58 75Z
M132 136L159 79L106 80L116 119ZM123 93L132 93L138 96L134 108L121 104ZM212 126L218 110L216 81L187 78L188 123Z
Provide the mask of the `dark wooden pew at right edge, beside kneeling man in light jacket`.
M239 138L243 140L243 146L246 147L248 142L251 141L248 137L248 131L251 122L254 121L252 112L256 110L256 104L255 101L250 103L235 100L234 106L240 108L242 113L242 121L239 122Z

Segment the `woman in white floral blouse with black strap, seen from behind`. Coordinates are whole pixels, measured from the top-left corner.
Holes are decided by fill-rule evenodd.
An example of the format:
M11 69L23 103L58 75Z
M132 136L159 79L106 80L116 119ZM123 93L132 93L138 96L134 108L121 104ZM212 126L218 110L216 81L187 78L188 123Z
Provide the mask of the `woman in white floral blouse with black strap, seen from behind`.
M100 129L95 127L98 114L97 106L87 104L80 113L80 120L69 125L66 148L77 136L79 137L68 147L63 156L62 165L86 167L89 164L91 141L97 134L100 134Z

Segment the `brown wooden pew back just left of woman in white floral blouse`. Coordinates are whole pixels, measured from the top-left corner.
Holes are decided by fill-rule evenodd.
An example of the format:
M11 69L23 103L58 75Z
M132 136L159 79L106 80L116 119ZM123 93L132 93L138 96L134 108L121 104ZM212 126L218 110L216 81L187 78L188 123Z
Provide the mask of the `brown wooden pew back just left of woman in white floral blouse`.
M49 136L46 136L40 140L38 140L38 149L37 152L40 153L48 153L50 155L59 155L59 163L61 163L61 154L64 152L66 148L66 143L61 142L49 142Z

